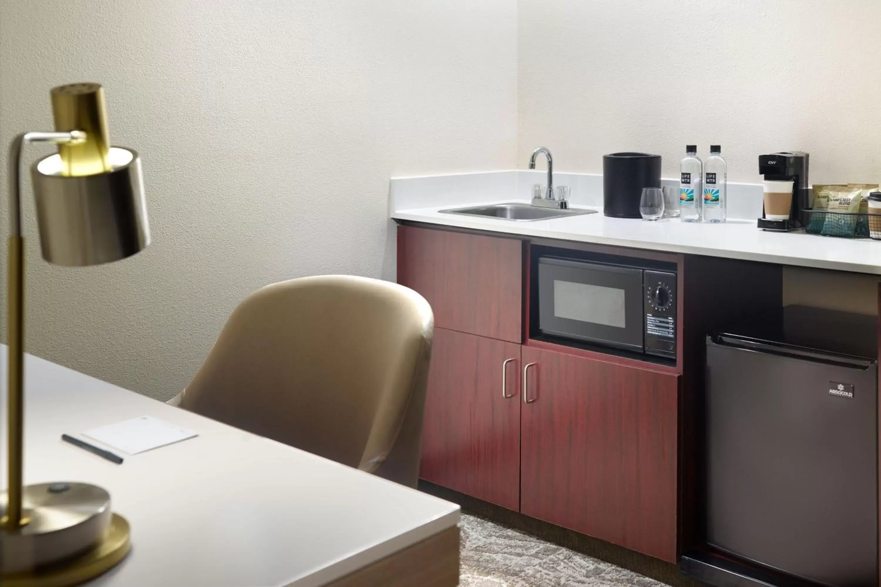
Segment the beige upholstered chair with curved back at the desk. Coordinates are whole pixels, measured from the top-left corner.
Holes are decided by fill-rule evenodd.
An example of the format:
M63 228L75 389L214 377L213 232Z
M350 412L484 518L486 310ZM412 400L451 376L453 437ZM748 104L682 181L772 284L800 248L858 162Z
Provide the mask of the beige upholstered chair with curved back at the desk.
M432 333L425 298L396 283L275 283L168 403L415 487Z

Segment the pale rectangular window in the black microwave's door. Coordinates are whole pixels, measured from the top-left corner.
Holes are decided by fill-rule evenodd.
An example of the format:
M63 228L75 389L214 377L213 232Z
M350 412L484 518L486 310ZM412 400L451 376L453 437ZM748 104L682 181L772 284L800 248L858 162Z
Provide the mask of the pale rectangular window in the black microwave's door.
M626 291L590 283L553 282L553 313L557 318L605 327L626 328Z

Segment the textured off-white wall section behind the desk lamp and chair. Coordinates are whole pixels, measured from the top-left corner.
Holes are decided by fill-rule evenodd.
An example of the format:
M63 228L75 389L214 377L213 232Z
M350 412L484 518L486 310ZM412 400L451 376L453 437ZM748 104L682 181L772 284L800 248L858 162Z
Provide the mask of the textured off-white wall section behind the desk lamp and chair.
M28 350L166 399L252 290L392 277L390 176L514 165L516 55L512 0L0 3L0 144L51 127L50 87L104 84L154 239L50 267L28 194Z

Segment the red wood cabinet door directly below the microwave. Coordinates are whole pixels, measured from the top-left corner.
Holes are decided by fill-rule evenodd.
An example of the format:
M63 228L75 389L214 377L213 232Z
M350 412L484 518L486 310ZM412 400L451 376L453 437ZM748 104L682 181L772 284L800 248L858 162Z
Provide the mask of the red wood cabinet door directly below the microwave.
M677 559L676 375L523 347L521 511Z

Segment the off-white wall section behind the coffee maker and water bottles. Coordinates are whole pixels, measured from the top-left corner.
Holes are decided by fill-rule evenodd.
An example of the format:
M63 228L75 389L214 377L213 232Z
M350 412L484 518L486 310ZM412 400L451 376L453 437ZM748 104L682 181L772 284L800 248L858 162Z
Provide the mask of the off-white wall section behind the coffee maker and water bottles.
M729 180L811 153L814 183L881 180L877 0L519 0L518 166L560 171L648 150L675 177L721 143Z

